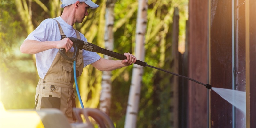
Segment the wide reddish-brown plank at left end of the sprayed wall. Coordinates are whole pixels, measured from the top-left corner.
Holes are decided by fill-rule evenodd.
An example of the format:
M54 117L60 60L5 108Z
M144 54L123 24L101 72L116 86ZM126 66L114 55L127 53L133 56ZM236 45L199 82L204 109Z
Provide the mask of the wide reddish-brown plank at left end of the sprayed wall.
M188 77L207 83L208 1L189 1ZM188 127L207 127L207 89L188 81Z

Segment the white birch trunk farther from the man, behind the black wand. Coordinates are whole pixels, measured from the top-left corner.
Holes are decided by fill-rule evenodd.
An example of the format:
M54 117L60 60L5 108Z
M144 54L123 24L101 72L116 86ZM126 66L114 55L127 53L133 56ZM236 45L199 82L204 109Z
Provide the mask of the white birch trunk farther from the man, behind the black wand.
M135 55L138 60L144 61L145 33L147 28L147 0L138 0L138 16L136 24L136 46ZM128 105L125 117L125 128L136 128L136 120L139 109L140 90L142 82L143 67L133 65L132 83L129 92Z

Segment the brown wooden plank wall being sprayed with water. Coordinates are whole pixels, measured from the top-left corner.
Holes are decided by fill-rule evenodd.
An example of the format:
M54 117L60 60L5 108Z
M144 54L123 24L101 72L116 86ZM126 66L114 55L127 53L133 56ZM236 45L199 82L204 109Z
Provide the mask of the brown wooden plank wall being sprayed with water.
M234 12L232 4L235 7ZM247 7L244 4L247 4ZM245 27L248 22L245 23L244 10L248 8L250 18L247 21L250 25ZM188 77L202 83L209 82L212 87L245 91L246 74L246 127L251 128L256 127L255 12L255 0L189 0ZM245 36L248 35L250 37L245 41ZM245 52L248 53L245 55ZM245 71L245 66L249 67L249 70ZM244 117L234 109L214 91L208 91L203 86L188 81L186 127L245 127Z

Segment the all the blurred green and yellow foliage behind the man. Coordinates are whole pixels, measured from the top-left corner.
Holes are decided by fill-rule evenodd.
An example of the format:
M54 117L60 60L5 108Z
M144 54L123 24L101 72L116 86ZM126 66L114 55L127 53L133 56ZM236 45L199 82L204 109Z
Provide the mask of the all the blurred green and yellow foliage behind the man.
M61 9L56 9L60 8L60 1L40 1L47 9L34 1L31 3L31 22L34 29L44 19L59 16L61 12ZM26 2L28 3L28 1ZM102 31L104 29L102 26L104 26L106 0L96 0L95 2L100 7L89 10L89 16L85 18L84 22L75 24L74 27L81 31L89 42L103 47L104 33ZM172 24L173 11L176 6L179 8L180 14L180 43L182 43L184 42L185 21L188 19L188 0L148 0L145 62L149 65L162 68L166 56L170 56L165 53L165 50L170 47L171 42L166 45L166 40L170 38L170 35L167 34ZM136 0L116 0L114 8L114 52L134 53L137 8ZM33 56L21 54L19 50L24 38L29 34L27 29L31 27L23 19L17 13L14 0L1 1L0 100L7 109L33 108L34 106L38 75ZM165 92L162 94L159 92L159 83L153 83L156 76L164 76L156 73L155 69L144 68L137 122L139 128L160 126L162 119L156 115L160 111L168 111L161 106L163 103L157 102L157 99L166 97ZM124 126L131 76L132 66L113 71L110 118L117 127ZM87 107L95 108L98 105L100 78L101 72L87 66L84 68L83 75L78 79L80 93L82 99L85 99L84 104ZM78 100L76 101L77 106L79 106Z

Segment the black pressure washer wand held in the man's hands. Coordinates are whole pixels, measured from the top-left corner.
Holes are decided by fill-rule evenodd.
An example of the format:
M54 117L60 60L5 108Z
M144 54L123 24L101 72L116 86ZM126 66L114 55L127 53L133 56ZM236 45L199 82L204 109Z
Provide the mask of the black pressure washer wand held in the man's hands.
M84 49L84 50L91 51L91 52L101 53L101 54L104 54L104 55L107 55L107 56L111 56L111 57L119 59L119 60L127 59L126 56L124 56L122 54L119 54L119 53L116 53L116 52L113 52L113 51L109 51L109 50L101 48L101 47L99 47L99 46L97 46L95 44L92 44L92 43L89 43L89 42L86 42L86 41L83 41L83 40L80 40L80 39L77 39L77 38L74 38L74 37L67 37L67 38L69 38L73 42L74 49L75 49L75 47L78 47L79 49ZM74 46L74 45L76 45L76 46ZM63 49L59 50L59 52L62 52L61 55L63 56L65 51L62 51L62 50ZM74 51L74 53L75 53L75 51ZM66 59L69 59L69 58L67 58L67 56L66 56ZM191 81L196 82L198 84L204 85L208 89L212 88L212 86L210 84L204 84L204 83L201 83L201 82L199 82L197 80L194 80L192 78L189 78L189 77L186 77L186 76L182 76L182 75L179 75L179 74L176 74L176 73L173 73L173 72L161 69L161 68L157 68L157 67L148 65L146 62L143 62L143 61L140 61L140 60L137 60L135 62L135 64L143 66L143 67L155 68L157 70L164 71L166 73L170 73L172 75L179 76L179 77L191 80Z

